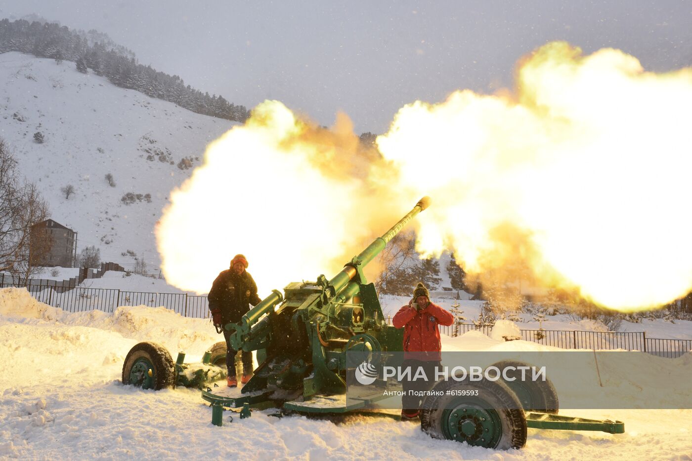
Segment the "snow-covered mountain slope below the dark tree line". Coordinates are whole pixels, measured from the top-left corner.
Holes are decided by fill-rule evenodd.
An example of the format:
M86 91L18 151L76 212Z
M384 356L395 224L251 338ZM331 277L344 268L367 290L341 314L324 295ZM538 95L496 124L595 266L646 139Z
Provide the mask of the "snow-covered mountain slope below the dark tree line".
M78 252L96 245L103 261L127 267L132 260L121 253L132 250L159 263L154 225L169 192L190 176L206 144L237 123L118 88L73 62L21 53L0 55L0 82L0 136L37 182L51 218L78 232ZM60 191L66 185L75 187L69 200ZM141 196L125 205L127 193Z

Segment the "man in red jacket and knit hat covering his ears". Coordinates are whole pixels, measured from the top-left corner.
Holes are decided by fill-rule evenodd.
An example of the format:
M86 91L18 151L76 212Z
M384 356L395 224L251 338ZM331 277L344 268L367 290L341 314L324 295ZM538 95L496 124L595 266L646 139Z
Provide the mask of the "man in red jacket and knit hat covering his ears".
M441 344L438 325L454 323L454 316L430 302L428 289L419 283L413 290L413 298L404 305L394 318L395 328L403 327L403 368L410 367L411 376L418 368L423 368L426 382L403 381L404 395L401 398L402 420L415 420L421 408L421 397L408 395L409 391L429 391L435 384L435 367L441 360Z

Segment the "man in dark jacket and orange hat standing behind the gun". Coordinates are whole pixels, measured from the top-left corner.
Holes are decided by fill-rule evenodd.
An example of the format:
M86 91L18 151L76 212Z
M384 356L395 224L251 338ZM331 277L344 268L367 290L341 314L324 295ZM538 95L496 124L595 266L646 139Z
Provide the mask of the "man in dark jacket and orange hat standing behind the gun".
M221 328L226 323L240 323L243 315L250 310L250 304L257 305L262 301L257 296L257 285L253 277L246 271L248 260L242 254L236 254L230 261L230 269L224 270L217 276L209 290L209 310L212 313L214 325ZM236 387L235 355L237 350L230 346L231 332L224 328L226 338L226 367L228 368L228 387ZM253 353L242 352L243 377L241 382L248 382L253 373Z

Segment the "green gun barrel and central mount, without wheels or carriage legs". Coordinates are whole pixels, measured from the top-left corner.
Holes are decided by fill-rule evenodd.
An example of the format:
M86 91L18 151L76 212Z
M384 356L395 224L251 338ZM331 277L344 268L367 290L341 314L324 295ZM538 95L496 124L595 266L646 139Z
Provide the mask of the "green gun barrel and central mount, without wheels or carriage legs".
M261 391L268 398L288 401L344 394L345 375L352 368L347 352L401 350L403 331L387 325L363 267L428 203L429 198L422 198L336 276L289 283L284 295L273 290L239 324L226 325L233 332L233 348L257 350L260 366L243 387L244 394Z

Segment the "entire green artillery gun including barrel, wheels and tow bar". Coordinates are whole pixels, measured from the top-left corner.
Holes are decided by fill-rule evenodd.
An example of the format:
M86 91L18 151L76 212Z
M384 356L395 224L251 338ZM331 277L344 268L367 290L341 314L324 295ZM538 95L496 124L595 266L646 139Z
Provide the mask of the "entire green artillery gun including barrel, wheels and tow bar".
M184 355L173 364L165 349L140 343L125 360L122 382L154 389L172 384L197 386L202 389L202 399L210 402L212 423L217 425L222 424L224 408L243 408L240 417L251 415L251 407L331 414L372 408L388 398L383 387L389 384L376 382L370 392L347 399L347 376L357 365L353 357L386 361L388 352L403 350L403 329L385 321L374 284L367 283L363 268L428 205L429 198L419 200L331 279L320 275L315 282L289 283L283 294L273 290L239 323L226 324L235 350L255 350L257 354L259 365L242 388L212 384L225 377L224 370L214 365L225 364L224 343L212 348L214 354L207 352L202 364L183 364ZM524 446L528 427L624 431L622 422L557 415L558 398L549 381L534 385L484 380L473 385L482 390L482 399L428 397L421 412L421 429L434 438L497 449ZM445 395L453 386L468 388L470 384L441 381L432 390Z

